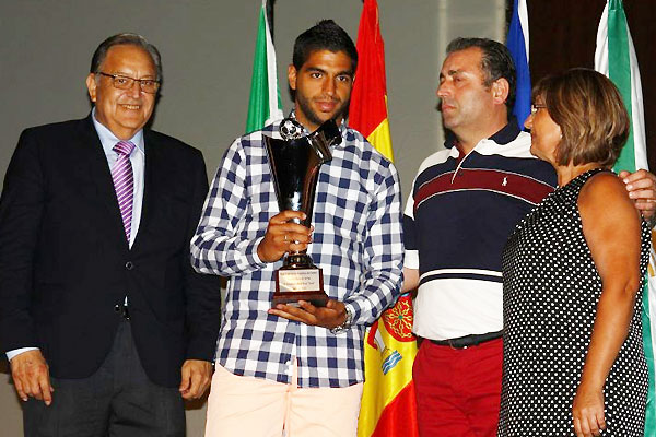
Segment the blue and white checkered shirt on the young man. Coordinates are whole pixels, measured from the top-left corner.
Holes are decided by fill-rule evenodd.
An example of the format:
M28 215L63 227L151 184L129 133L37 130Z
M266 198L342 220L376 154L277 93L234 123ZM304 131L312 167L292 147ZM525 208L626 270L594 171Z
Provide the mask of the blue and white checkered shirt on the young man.
M196 236L191 262L201 273L230 276L216 362L235 375L298 386L348 387L364 380L365 328L400 293L403 245L398 175L361 133L340 127L343 141L320 167L307 253L324 271L324 288L353 314L353 326L330 330L267 312L274 271L257 246L278 214L262 132L281 138L279 122L242 137L219 167Z

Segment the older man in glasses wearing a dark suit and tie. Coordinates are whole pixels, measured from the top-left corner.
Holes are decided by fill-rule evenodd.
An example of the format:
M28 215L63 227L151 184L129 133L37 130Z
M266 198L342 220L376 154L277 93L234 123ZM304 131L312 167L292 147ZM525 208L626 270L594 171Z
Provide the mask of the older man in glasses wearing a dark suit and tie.
M157 49L96 49L92 113L25 130L0 200L0 347L27 436L180 436L207 389L218 280L189 240L208 185L199 151L144 126Z

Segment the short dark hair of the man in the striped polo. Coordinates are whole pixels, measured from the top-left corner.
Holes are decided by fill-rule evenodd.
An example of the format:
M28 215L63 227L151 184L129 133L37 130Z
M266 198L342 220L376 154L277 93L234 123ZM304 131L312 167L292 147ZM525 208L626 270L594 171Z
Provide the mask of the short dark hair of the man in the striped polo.
M508 114L515 105L517 93L517 72L511 51L503 44L488 38L456 38L446 46L446 54L478 47L483 52L481 59L481 71L483 72L483 85L492 86L494 81L503 78L508 81L508 98L506 107Z

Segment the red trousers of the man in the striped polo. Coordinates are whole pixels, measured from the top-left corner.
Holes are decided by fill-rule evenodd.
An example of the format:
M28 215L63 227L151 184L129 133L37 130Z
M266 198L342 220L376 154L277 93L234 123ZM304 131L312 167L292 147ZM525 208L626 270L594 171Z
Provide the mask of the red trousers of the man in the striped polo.
M503 341L453 349L424 340L412 377L421 437L495 437Z

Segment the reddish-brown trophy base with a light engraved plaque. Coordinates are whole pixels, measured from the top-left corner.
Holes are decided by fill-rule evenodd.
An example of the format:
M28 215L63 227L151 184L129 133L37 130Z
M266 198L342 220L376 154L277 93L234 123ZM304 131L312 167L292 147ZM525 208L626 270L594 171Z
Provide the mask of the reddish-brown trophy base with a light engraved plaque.
M285 260L286 261L286 260ZM276 272L276 293L272 305L309 302L316 307L325 307L328 296L324 293L321 269L305 264L288 264Z

